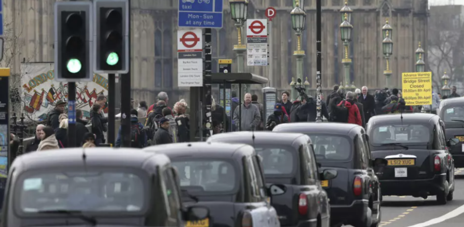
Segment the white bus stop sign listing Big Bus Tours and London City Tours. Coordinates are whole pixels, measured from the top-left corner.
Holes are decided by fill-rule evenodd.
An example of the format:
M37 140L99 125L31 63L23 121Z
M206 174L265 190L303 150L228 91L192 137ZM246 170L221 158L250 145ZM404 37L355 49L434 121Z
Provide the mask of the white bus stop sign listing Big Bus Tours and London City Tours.
M177 31L177 58L177 85L203 86L203 41L200 29Z

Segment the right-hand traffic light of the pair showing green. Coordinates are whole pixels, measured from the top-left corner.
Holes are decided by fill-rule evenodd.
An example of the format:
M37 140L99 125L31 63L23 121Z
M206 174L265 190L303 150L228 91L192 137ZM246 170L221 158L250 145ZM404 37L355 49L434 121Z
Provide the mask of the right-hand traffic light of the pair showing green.
M96 73L127 73L129 69L128 0L95 0L94 58Z

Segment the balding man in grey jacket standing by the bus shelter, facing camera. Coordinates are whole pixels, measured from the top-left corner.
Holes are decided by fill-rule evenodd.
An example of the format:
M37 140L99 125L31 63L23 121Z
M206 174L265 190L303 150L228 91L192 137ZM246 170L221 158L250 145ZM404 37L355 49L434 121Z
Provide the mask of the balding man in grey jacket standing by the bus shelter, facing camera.
M238 123L240 120L240 106L241 106L241 121L240 121L240 131L251 131L256 130L256 127L259 126L261 122L261 114L259 113L259 108L252 104L252 95L250 93L245 94L245 102L242 105L239 105L233 111L233 121L238 130Z

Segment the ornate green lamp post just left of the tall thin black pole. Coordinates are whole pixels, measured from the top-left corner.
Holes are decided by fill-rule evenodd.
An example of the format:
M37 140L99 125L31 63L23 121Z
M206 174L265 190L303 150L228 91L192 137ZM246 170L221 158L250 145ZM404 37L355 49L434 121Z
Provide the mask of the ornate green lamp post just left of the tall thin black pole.
M296 57L296 80L301 79L303 81L303 58L305 53L301 49L301 32L305 27L306 13L300 8L299 0L295 0L295 8L290 12L290 16L292 17L292 27L296 34L296 50L293 52L293 55ZM292 90L292 94L294 93Z

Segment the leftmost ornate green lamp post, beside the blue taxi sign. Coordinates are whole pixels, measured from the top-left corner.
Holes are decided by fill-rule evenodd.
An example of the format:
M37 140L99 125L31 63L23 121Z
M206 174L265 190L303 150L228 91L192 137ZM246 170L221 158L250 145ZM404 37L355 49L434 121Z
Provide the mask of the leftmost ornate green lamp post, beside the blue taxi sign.
M229 4L231 7L232 20L235 21L235 27L237 28L238 44L233 45L233 51L237 56L237 72L243 73L245 71L245 52L247 51L247 45L242 44L242 26L248 18L248 0L229 0ZM247 89L248 85L245 87L245 90ZM233 90L236 90L236 87Z

